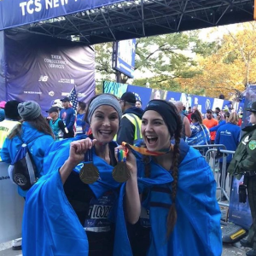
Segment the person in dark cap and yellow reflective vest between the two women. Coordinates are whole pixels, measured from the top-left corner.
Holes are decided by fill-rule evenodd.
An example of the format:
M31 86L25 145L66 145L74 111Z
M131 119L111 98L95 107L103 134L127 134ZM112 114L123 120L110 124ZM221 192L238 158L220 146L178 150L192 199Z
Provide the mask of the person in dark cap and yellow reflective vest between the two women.
M117 133L117 143L136 144L143 138L141 132L143 109L135 107L136 96L126 91L119 99L123 116Z

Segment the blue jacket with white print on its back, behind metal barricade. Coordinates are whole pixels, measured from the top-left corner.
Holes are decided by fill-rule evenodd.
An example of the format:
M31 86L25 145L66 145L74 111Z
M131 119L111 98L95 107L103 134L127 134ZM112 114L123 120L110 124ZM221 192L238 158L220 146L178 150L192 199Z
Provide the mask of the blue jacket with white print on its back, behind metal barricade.
M227 150L236 151L236 148L240 141L240 133L241 127L239 127L238 125L227 123L226 125L222 125L218 128L214 143L224 144ZM232 154L228 154L227 163L230 163L231 159ZM221 158L220 161L222 162L223 159Z

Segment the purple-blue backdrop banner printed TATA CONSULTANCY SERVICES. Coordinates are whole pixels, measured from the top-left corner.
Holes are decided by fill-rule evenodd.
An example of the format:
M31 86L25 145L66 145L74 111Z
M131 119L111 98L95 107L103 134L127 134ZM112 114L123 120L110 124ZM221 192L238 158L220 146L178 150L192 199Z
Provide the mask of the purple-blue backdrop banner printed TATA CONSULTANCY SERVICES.
M79 101L95 95L95 54L90 47L28 33L4 32L3 37L2 100L36 101L46 114L75 84Z

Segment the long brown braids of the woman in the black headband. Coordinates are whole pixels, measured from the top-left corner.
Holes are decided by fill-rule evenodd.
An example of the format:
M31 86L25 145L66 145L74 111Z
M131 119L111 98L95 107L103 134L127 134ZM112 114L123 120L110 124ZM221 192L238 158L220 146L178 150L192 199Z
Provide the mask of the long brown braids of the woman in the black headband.
M166 236L169 237L170 234L172 233L172 230L174 229L174 226L177 221L177 211L175 207L175 201L176 201L176 195L177 195L177 179L178 179L178 159L179 159L179 143L180 143L180 138L181 138L181 132L183 128L183 123L180 117L180 114L177 112L177 108L172 102L167 102L170 108L175 109L175 117L177 121L177 129L176 131L172 131L173 133L173 138L174 138L174 147L173 147L173 159L172 159L172 177L173 177L173 182L172 182L172 206L169 209L168 216L167 216L167 221L166 221L166 226L167 226L167 234ZM143 162L145 165L145 176L150 177L150 165L149 165L149 157L148 156L143 156Z

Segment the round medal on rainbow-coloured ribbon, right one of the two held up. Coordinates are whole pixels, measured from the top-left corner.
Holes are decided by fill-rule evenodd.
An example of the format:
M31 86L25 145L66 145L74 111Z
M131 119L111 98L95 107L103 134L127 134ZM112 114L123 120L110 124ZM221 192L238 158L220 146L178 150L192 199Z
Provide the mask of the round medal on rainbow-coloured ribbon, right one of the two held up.
M118 163L113 168L113 179L118 183L125 183L130 177L131 173L126 166L127 149L118 149Z

